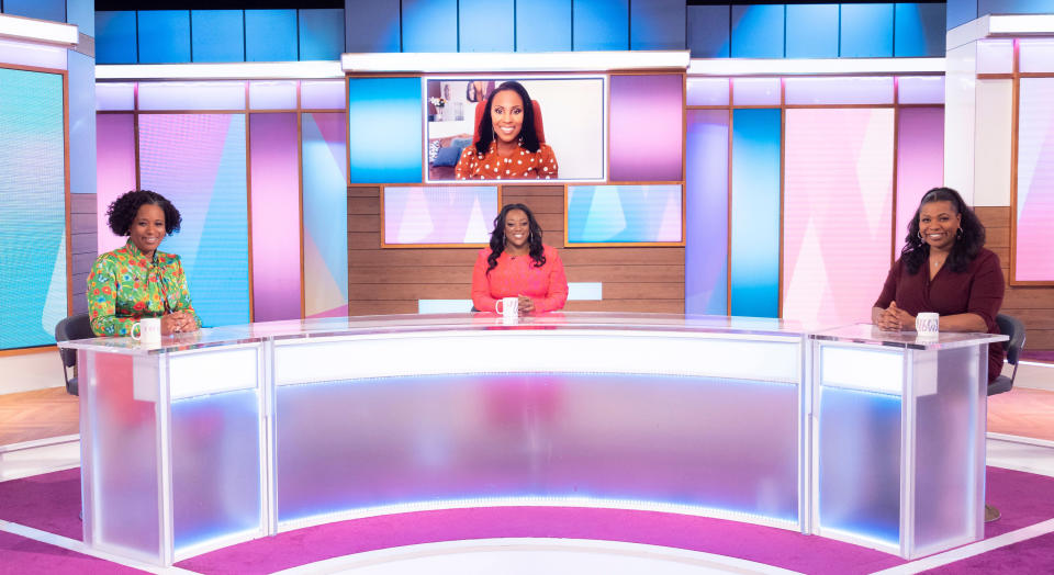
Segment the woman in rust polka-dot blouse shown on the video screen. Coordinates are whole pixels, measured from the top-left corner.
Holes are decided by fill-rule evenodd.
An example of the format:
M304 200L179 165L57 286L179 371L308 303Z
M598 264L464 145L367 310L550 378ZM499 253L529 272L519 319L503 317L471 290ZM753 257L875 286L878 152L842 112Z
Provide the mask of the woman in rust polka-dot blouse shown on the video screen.
M552 148L538 142L535 106L516 81L503 82L486 99L480 140L461 151L458 180L549 180L557 178Z

